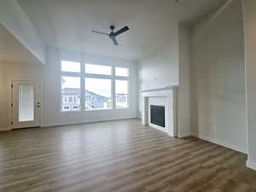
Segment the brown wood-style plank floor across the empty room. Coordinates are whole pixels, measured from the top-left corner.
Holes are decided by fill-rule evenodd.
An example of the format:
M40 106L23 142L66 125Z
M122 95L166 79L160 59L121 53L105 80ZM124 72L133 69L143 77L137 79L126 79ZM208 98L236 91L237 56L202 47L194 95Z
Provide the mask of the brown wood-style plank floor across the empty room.
M253 192L247 157L137 119L0 133L1 192Z

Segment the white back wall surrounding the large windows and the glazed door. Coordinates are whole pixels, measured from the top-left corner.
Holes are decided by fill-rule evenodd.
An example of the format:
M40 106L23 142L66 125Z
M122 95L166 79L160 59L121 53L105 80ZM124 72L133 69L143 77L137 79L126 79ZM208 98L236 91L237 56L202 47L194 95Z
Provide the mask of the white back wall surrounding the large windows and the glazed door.
M90 61L98 64L113 64L131 69L131 108L102 111L80 111L61 113L61 59L71 61ZM9 80L42 80L42 125L67 125L96 122L109 119L137 118L137 65L135 61L125 61L101 55L90 55L68 50L48 49L46 66L15 63L0 64L0 129L9 126Z

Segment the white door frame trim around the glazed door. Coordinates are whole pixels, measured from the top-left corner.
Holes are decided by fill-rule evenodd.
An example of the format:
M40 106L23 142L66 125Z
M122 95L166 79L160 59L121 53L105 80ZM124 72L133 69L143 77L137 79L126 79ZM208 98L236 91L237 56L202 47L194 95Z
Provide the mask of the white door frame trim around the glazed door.
M42 84L42 80L41 79L20 79L20 78L10 78L9 79L9 107L8 107L8 111L9 111L9 130L15 130L15 126L13 125L13 81L27 81L27 82L37 82L38 84L40 84L40 113L39 113L39 127L42 125L42 117L43 117L43 84ZM20 128L22 129L22 128Z

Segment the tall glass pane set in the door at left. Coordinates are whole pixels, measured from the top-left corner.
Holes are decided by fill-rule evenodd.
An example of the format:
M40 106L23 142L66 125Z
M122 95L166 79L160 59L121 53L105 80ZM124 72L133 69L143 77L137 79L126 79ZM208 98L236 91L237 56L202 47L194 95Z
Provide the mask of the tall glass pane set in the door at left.
M34 121L34 86L19 84L19 122Z

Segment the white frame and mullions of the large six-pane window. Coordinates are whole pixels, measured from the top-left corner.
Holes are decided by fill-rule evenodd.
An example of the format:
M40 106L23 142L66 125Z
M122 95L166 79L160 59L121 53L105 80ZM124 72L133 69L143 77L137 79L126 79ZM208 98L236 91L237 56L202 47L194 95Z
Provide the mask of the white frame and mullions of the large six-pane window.
M61 59L62 61L70 61L66 59ZM113 65L113 64L102 64L102 63L97 63L97 62L91 62L91 61L71 61L71 62L79 62L80 64L80 72L66 72L66 71L61 71L61 63L60 63L60 81L62 76L67 76L67 77L76 77L80 78L80 97L77 97L77 102L80 102L80 108L77 110L63 110L63 107L65 104L63 102L63 97L62 97L62 91L61 91L61 113L76 113L76 112L91 112L91 111L108 111L108 110L124 110L124 109L129 109L131 108L131 67L130 66L119 66L119 65ZM105 74L94 74L94 73L86 73L85 71L85 65L90 64L90 65L98 65L98 66L106 66L106 67L111 67L111 75L105 75ZM126 68L128 69L128 76L116 76L115 75L115 68ZM92 78L92 79L110 79L111 80L111 101L112 101L112 108L100 108L100 109L85 109L85 79L86 78ZM116 108L116 89L115 89L115 80L127 80L128 83L128 94L127 94L127 108ZM61 84L61 82L60 82ZM60 89L61 90L61 89ZM88 101L87 101L88 102Z

